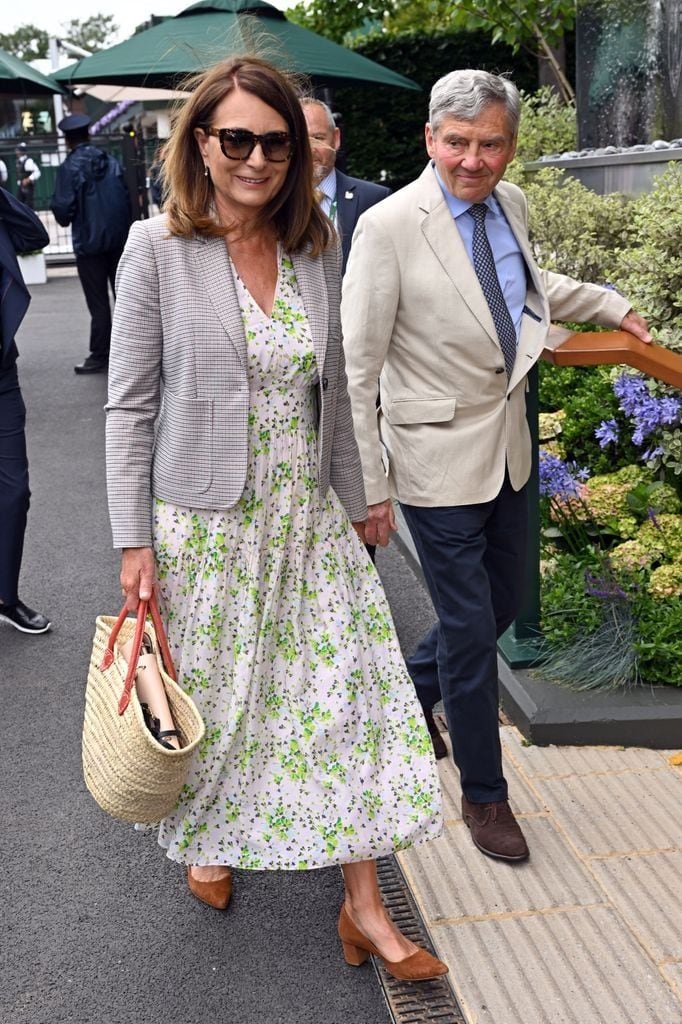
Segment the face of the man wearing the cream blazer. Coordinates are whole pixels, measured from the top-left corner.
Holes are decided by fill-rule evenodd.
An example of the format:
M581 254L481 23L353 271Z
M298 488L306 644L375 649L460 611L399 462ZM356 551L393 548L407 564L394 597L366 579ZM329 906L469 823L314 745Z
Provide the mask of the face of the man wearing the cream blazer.
M435 131L427 124L426 148L453 196L481 203L513 159L516 139L504 103L491 103L473 121L444 117Z

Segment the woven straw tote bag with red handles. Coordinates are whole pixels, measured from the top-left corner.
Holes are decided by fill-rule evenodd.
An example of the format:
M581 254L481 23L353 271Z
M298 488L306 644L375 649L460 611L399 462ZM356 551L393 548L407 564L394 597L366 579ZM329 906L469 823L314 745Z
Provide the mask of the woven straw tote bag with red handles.
M147 613L152 624L146 622ZM135 691L135 673L143 635L155 657L180 733L180 750L167 750L148 731ZM127 663L117 647L133 638ZM156 595L140 601L137 620L96 620L83 723L85 784L102 810L123 821L153 823L177 804L191 755L204 736L204 722L194 701L175 681L175 669L159 614Z

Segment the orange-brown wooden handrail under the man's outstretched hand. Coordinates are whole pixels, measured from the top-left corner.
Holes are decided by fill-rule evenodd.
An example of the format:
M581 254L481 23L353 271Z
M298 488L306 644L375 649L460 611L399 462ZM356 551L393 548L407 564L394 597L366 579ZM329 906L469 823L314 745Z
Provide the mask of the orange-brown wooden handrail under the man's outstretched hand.
M682 355L663 345L645 345L627 331L572 334L553 327L543 358L557 367L596 367L624 364L665 384L682 388Z

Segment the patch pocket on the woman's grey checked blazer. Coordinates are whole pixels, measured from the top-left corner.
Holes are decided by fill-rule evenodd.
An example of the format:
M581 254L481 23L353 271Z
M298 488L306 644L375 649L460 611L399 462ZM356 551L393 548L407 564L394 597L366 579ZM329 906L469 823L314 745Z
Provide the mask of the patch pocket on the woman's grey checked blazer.
M208 490L212 480L213 402L164 391L154 450L154 475L189 494Z

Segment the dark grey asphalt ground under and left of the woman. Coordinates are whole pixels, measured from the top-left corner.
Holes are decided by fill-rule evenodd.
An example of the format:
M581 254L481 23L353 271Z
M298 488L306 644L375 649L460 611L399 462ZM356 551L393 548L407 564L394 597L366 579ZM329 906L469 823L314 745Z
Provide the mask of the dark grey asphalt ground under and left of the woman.
M78 280L32 292L17 339L33 490L19 593L53 631L0 624L0 1022L388 1024L372 968L341 956L338 868L236 872L221 914L190 897L153 834L110 819L85 790L94 620L120 605L105 379L73 371L88 347ZM432 622L428 597L394 545L379 567L408 651Z

